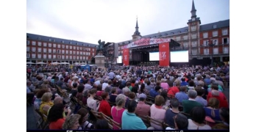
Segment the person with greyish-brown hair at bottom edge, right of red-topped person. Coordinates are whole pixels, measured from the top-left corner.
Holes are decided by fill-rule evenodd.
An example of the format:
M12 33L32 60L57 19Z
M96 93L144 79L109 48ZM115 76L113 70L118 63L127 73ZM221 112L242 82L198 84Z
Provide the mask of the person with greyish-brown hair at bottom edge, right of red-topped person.
M77 130L79 128L79 114L72 114L70 117L65 119L63 124L63 130Z

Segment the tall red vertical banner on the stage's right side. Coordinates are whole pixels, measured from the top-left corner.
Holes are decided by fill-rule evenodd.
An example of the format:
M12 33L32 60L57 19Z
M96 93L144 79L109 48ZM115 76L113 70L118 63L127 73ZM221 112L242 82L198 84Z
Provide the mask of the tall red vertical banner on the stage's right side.
M170 63L169 43L159 44L159 65L162 67L168 66Z

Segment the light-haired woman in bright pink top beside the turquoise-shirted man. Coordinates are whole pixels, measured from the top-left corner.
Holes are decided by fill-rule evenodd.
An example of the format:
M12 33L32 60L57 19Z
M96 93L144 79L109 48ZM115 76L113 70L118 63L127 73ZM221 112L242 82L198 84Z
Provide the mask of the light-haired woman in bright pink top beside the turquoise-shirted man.
M121 119L122 119L122 115L124 112L124 104L125 101L127 100L127 97L125 95L119 94L116 98L115 98L115 103L116 106L113 106L111 108L111 115L113 117L113 120L115 122L118 122L120 124L122 124ZM114 130L118 130L118 127L116 127L115 125L113 125L113 129Z

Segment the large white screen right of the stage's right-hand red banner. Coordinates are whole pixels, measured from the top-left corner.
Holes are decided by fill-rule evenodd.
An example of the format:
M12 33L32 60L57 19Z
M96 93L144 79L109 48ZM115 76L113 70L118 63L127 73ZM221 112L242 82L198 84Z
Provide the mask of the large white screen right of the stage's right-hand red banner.
M188 62L188 51L171 51L170 62Z

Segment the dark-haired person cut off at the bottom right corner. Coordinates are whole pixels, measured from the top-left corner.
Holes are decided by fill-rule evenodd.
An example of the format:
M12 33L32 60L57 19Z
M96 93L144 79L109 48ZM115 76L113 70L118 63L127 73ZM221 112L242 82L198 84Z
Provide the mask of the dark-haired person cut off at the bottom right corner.
M218 123L213 126L213 129L230 129L230 109L221 108L219 109L219 114L222 120L222 123Z

